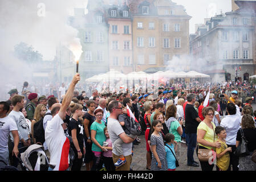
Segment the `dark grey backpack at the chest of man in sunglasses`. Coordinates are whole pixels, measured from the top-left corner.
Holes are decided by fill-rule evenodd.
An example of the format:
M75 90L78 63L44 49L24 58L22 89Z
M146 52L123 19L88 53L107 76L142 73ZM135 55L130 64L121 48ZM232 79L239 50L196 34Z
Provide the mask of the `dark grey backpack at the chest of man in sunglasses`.
M131 135L140 135L140 123L136 122L132 117L128 117L128 115L120 114L119 117L123 118L121 121L124 121L125 127L131 133Z

